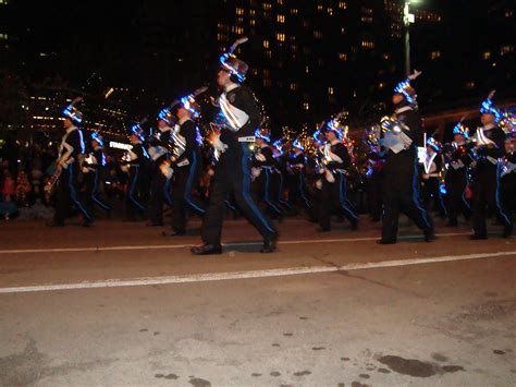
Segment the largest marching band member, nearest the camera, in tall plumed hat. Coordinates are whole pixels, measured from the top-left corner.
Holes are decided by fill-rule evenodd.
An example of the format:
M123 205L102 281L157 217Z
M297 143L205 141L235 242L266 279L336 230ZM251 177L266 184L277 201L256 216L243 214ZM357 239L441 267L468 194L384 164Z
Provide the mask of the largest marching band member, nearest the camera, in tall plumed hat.
M248 70L247 63L232 55L234 49L246 38L237 40L220 58L217 83L223 89L219 105L228 122L222 129L214 147L220 156L216 166L213 184L210 191L209 206L202 222L201 238L204 244L192 249L196 255L221 254L221 231L224 214L224 202L230 192L243 215L255 226L263 238L261 253L275 250L278 233L271 222L263 216L249 192L249 144L255 141L255 130L261 122L260 108L253 93L242 82Z

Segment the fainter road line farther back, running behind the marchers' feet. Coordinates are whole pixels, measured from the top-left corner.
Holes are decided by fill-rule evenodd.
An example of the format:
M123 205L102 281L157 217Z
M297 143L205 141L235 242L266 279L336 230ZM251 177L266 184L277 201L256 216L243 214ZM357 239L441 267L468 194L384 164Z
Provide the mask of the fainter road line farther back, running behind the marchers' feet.
M438 233L438 237L465 237L469 235L470 232L450 232L450 233ZM421 239L421 234L415 235L403 235L400 240L404 239ZM347 242L367 242L376 241L378 237L364 237L364 238L341 238L341 239L305 239L294 241L279 241L278 244L311 244L311 243L347 243ZM223 243L224 246L251 246L261 245L262 242L234 242ZM103 251L131 251L131 250L171 250L171 249L187 249L198 244L148 244L148 245L121 245L121 246L93 246L93 247L49 247L49 249L12 249L12 250L0 250L0 254L39 254L39 253L87 253L87 252L103 252Z

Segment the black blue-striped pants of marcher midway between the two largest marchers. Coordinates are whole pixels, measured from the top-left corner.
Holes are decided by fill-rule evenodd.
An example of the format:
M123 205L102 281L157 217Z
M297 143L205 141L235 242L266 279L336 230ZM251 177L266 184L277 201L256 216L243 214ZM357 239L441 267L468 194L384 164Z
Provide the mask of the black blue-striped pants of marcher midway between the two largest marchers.
M344 173L333 173L335 181L330 183L322 178L321 203L319 207L319 225L323 230L331 229L331 209L346 217L352 225L356 225L358 217L347 198L347 181Z

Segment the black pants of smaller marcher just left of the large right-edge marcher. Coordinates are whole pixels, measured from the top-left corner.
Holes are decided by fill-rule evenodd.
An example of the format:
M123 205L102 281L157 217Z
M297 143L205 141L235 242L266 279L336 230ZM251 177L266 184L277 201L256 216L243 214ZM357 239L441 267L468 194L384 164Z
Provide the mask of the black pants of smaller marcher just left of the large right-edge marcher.
M466 219L471 216L471 207L466 199L466 186L468 184L467 169L450 168L445 178L446 184L446 209L450 221L456 222L458 215L463 214Z

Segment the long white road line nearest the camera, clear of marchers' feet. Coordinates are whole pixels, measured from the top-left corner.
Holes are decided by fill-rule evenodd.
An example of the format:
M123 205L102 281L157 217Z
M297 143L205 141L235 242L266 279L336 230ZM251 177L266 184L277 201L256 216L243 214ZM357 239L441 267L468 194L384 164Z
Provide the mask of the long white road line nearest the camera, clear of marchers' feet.
M415 258L415 259L351 263L343 266L291 267L291 268L268 269L268 270L207 273L207 274L198 274L198 275L189 275L189 276L185 275L185 276L148 277L148 278L132 278L132 279L108 279L108 280L102 280L102 281L84 281L84 282L77 282L77 283L37 285L37 286L29 286L29 287L0 288L0 293L26 293L26 292L44 292L44 291L56 291L56 290L139 287L139 286L149 286L149 285L170 285L170 283L222 281L222 280L232 280L232 279L270 278L270 277L283 277L283 276L298 276L298 275L306 275L306 274L352 271L352 270L373 269L373 268L394 267L394 266L423 265L423 264L452 262L452 261L496 258L496 257L504 257L504 256L511 256L511 255L516 256L516 251L484 253L484 254L468 254L468 255L445 255L445 256Z

